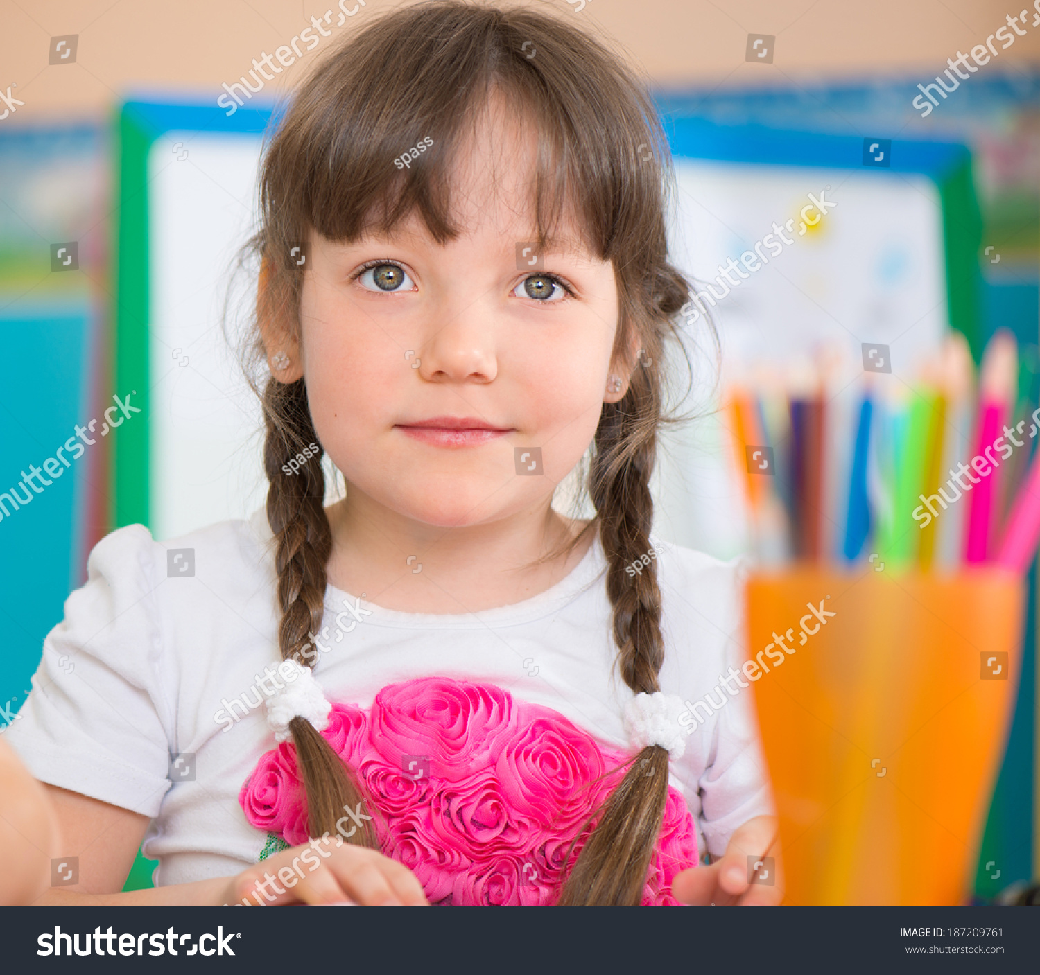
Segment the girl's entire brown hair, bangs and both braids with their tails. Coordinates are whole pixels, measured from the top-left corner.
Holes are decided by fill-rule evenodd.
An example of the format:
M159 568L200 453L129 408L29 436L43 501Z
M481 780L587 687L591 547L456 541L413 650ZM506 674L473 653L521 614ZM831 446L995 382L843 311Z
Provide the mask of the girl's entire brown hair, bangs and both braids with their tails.
M625 566L650 548L649 479L658 429L672 419L662 410L665 345L688 289L668 262L668 144L645 86L615 55L570 21L526 9L448 0L372 18L318 64L269 136L260 178L262 225L251 242L263 261L257 314L279 316L298 336L302 273L288 255L312 229L352 241L366 230L389 232L417 212L438 242L457 236L451 161L492 89L538 133L532 197L540 243L552 239L570 208L589 249L613 263L615 355L627 362L627 350L640 347L639 362L627 363L633 372L625 396L603 405L583 491L597 512L586 530L598 525L606 555L621 677L633 691L651 693L665 650L656 562L634 579ZM427 134L434 146L421 165L407 172L391 165ZM264 354L262 343L255 351ZM279 645L283 658L306 663L316 656L310 634L324 611L331 549L324 477L316 463L294 475L282 471L317 442L304 380L268 379L262 400ZM291 729L310 832L332 833L360 790L308 721L296 718ZM668 753L644 748L597 811L562 903L640 902L667 781ZM375 846L371 829L352 841Z

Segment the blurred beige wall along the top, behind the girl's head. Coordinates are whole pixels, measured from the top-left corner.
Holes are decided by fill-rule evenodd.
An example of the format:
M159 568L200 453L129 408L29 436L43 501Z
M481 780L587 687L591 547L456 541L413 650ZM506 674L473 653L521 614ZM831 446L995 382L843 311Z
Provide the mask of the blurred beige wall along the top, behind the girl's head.
M0 0L0 90L17 82L11 93L25 102L0 127L103 113L130 90L176 89L215 100L223 81L236 79L254 57L286 44L312 14L335 9L335 2ZM355 2L349 0L348 8ZM879 75L926 80L958 49L966 53L985 43L1010 9L1006 0L588 0L580 12L565 0L528 3L623 44L654 81L668 86L804 84ZM334 36L315 55L396 5L368 0L343 28L333 28ZM749 32L776 35L774 63L745 60ZM50 38L61 34L79 35L77 61L49 65ZM1031 61L1040 62L1040 27L1029 27L981 70L1021 70ZM277 85L295 83L312 63L305 57L280 75Z

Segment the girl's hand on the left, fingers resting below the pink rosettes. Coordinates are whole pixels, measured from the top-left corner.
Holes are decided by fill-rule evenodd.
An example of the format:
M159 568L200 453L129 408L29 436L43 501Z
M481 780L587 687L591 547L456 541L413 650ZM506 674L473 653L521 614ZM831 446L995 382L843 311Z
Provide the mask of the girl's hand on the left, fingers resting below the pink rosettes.
M320 840L282 850L232 877L228 904L426 904L415 874L375 850Z

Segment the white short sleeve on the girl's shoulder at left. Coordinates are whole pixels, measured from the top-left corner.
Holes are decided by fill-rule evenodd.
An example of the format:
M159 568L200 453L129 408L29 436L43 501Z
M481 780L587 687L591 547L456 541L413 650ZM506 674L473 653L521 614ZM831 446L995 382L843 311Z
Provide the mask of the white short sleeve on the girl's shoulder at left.
M141 525L98 543L6 732L42 782L149 817L170 787L176 700L176 675L162 671L155 548Z

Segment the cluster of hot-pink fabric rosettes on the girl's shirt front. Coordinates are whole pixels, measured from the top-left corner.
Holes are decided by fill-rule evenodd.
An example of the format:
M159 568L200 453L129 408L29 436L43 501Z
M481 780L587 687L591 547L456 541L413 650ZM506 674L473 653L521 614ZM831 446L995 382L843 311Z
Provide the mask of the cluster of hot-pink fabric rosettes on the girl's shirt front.
M427 678L383 688L371 712L333 706L322 736L367 796L383 852L433 903L554 903L632 756L498 687ZM419 774L405 765L421 757ZM307 841L295 749L268 752L239 801L257 828ZM697 863L693 817L669 788L642 902L676 903Z

